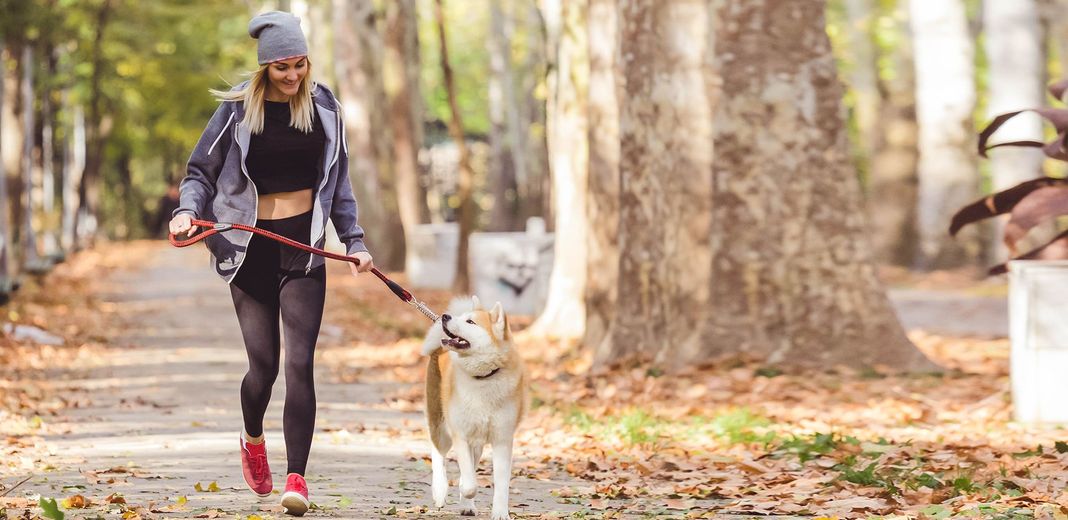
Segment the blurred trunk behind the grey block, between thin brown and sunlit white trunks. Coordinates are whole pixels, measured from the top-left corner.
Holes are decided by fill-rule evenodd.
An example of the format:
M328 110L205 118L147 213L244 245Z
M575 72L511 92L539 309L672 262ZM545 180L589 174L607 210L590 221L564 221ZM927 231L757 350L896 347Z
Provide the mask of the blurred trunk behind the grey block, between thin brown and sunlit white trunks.
M525 180L525 157L519 147L519 114L512 74L512 38L505 28L501 0L490 0L489 50L489 176L493 185L493 208L489 231L517 231L519 179Z

